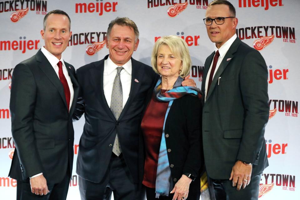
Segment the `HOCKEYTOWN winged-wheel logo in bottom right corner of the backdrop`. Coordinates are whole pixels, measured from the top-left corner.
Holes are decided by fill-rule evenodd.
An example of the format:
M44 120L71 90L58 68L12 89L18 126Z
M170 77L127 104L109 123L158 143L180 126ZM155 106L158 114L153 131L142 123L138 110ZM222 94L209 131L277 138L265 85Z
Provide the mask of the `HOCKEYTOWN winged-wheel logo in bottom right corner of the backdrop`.
M262 174L258 197L264 196L275 186L282 187L285 191L295 191L295 178L294 175L287 174Z

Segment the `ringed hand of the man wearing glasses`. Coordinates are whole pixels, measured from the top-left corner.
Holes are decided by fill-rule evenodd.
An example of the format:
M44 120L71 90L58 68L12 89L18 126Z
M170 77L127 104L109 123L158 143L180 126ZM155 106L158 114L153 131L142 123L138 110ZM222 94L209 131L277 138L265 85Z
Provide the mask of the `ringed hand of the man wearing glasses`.
M241 187L244 189L250 183L251 173L252 165L245 165L238 160L232 167L229 180L232 180L233 187L237 186L237 190L240 190Z

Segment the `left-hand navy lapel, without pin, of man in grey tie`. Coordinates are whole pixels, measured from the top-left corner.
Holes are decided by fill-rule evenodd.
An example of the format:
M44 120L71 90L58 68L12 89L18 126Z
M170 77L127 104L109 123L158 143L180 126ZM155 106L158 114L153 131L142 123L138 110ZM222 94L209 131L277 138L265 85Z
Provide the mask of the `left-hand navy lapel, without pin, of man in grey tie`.
M112 111L110 110L108 103L106 101L105 95L104 95L104 86L103 86L103 73L104 73L104 60L108 58L108 55L104 57L104 59L95 62L94 66L95 68L91 70L91 82L95 89L95 95L98 97L99 101L103 104L103 107L105 108L106 113L108 116L113 120L116 121L115 116L113 115Z

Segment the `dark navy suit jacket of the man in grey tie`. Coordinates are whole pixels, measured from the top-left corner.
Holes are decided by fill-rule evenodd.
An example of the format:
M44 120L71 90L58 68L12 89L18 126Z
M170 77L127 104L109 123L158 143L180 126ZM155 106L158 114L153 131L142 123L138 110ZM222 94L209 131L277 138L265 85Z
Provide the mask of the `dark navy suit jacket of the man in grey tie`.
M113 143L118 133L126 164L135 183L143 177L143 141L139 134L146 96L158 80L153 69L131 58L132 81L129 98L118 119L111 112L103 90L104 60L87 64L77 70L80 85L74 119L84 113L85 124L79 143L78 175L99 183L110 162ZM135 81L136 80L136 81Z

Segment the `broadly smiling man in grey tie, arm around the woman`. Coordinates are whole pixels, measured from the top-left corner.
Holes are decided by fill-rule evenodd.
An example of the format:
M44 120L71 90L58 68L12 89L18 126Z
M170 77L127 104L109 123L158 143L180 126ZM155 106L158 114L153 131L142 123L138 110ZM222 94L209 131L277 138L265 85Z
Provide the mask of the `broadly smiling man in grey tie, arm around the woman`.
M83 200L110 199L112 192L115 200L145 198L139 128L145 99L159 76L131 57L138 36L132 20L117 17L108 26L109 55L77 70L80 92L74 118L85 116L76 170Z

